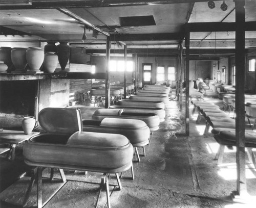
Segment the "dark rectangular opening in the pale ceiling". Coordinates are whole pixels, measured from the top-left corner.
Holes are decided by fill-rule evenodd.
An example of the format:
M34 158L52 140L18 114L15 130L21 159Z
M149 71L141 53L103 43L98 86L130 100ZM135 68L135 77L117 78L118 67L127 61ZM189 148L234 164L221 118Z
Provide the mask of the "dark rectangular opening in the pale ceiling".
M156 25L154 16L119 17L121 27Z

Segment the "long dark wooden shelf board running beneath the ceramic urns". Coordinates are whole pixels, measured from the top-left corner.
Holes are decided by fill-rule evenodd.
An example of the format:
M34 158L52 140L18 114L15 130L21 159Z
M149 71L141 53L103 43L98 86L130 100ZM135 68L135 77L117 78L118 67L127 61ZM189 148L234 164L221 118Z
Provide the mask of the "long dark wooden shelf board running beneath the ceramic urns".
M91 72L54 72L54 73L0 73L0 81L26 81L44 79L105 79L105 73Z

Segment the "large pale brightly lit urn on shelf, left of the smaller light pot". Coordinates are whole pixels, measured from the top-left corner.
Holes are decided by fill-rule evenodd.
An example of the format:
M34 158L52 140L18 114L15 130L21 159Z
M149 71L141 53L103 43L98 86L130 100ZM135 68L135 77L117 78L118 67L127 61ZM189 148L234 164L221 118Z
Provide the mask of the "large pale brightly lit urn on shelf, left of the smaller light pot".
M40 69L44 58L44 50L39 47L29 47L26 51L26 59L32 71L38 71Z

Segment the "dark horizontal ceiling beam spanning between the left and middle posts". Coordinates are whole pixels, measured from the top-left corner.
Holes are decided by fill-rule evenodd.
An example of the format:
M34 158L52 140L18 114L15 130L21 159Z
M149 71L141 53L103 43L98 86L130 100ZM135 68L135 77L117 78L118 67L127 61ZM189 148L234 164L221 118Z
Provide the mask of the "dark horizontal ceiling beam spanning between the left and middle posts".
M141 41L141 40L183 40L183 33L161 34L111 34L111 41Z

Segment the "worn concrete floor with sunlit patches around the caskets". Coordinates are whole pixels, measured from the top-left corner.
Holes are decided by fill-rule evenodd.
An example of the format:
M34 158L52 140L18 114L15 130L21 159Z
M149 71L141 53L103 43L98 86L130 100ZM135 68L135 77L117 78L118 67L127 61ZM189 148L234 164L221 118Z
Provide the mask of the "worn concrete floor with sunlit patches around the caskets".
M220 100L214 97L216 95L211 93L206 99L218 101L217 105L221 106ZM135 179L131 180L130 171L124 172L121 179L123 188L119 191L116 179L110 177L112 207L255 207L251 201L253 196L256 197L256 171L253 166L248 163L246 169L250 197L234 202L231 193L236 190L235 150L228 150L224 163L218 166L214 160L218 143L211 135L208 138L202 136L204 120L196 124L196 115L191 116L190 136L183 136L184 111L180 112L177 104L177 101L170 101L166 107L165 121L153 133L150 146L146 146L146 157L141 156L140 163L134 157ZM83 119L90 119L97 108L91 106L83 109ZM142 154L142 149L140 152ZM17 148L15 161L7 161L2 155L0 163L0 207L21 207L17 204L21 204L30 179L22 177L29 169L23 162L22 145ZM83 172L68 170L65 174L66 184L60 183L57 172L53 183L47 180L43 183L42 194L50 199L45 207L94 207L102 174L84 175ZM43 176L49 176L48 169ZM20 177L22 179L18 179ZM35 206L35 185L33 189L31 206ZM54 191L57 193L51 197ZM104 193L99 207L106 207Z

